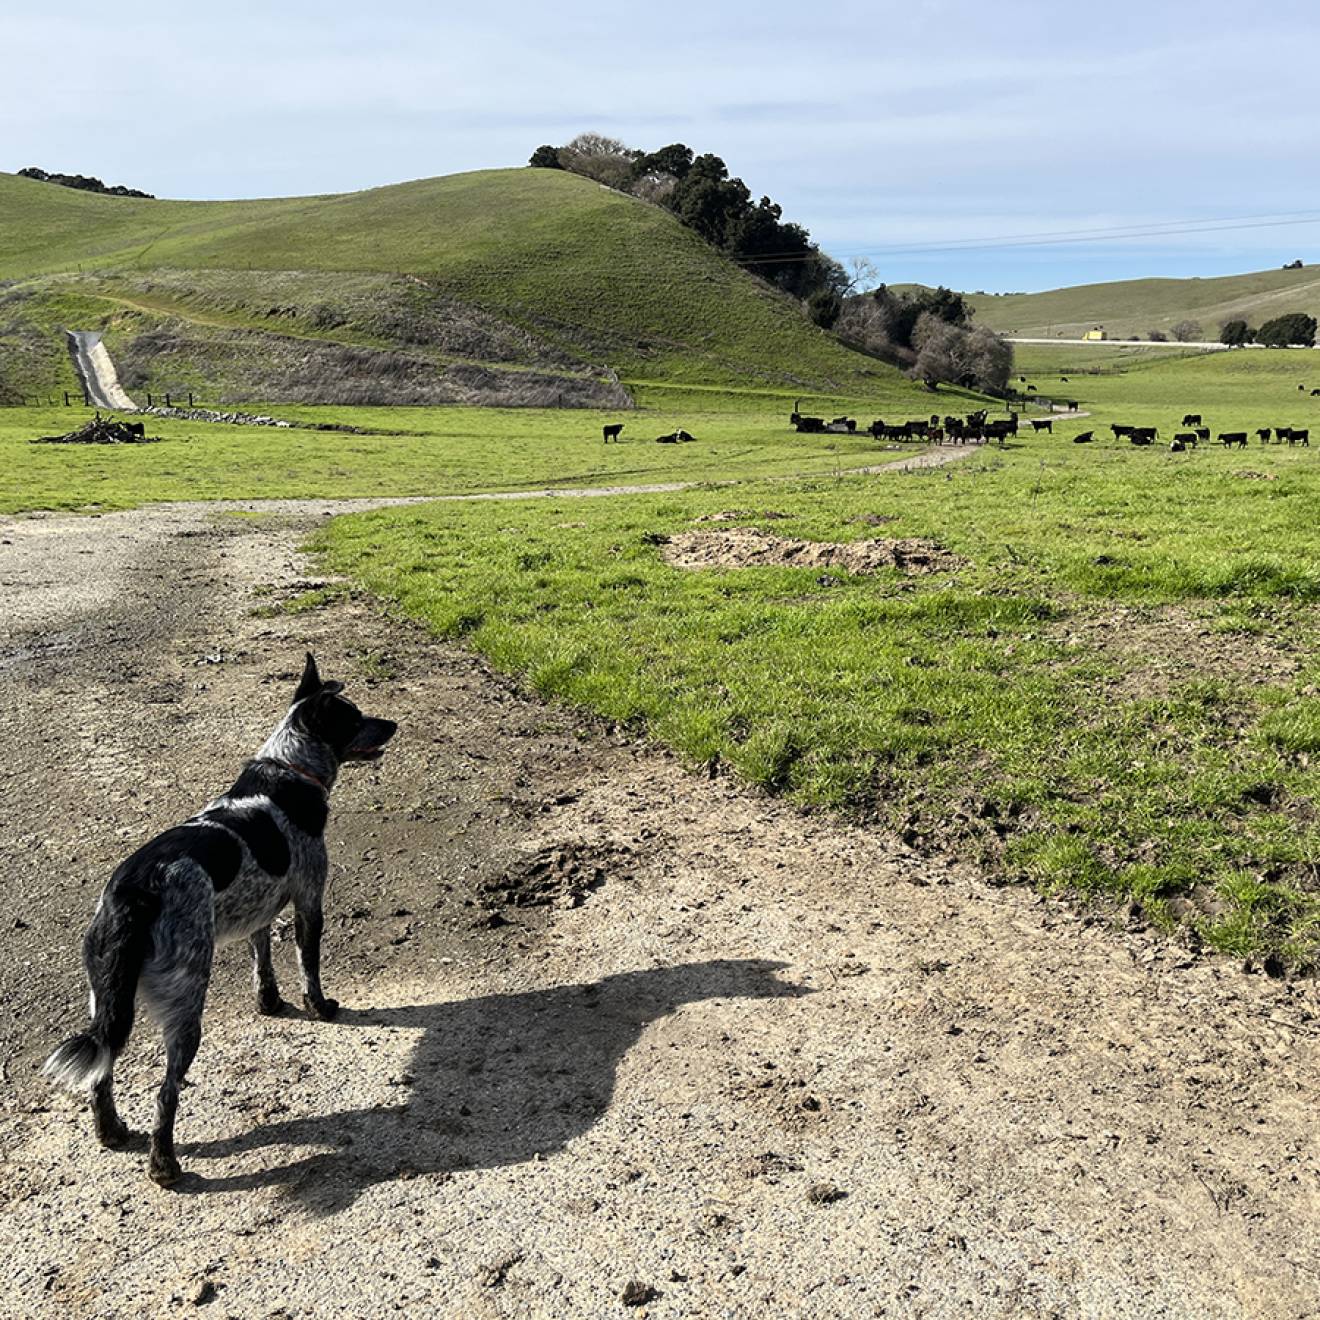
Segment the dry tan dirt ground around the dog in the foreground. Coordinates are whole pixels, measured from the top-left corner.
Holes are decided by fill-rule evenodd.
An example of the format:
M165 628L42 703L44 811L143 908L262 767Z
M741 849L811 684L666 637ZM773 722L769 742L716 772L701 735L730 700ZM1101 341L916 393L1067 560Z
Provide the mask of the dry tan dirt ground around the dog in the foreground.
M1313 983L698 777L370 602L272 614L327 508L0 521L5 1315L1320 1316ZM401 723L331 817L345 1008L257 1018L222 953L161 1191L37 1068L112 865L306 645ZM141 1129L148 1024L119 1076Z

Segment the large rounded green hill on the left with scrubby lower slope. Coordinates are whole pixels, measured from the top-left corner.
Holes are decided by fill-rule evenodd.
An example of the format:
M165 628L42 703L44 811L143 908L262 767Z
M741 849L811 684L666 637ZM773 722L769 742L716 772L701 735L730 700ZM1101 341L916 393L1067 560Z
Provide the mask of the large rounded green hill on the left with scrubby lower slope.
M62 326L104 329L129 388L267 401L898 384L668 213L558 170L251 202L0 174L0 281L11 393L66 379Z

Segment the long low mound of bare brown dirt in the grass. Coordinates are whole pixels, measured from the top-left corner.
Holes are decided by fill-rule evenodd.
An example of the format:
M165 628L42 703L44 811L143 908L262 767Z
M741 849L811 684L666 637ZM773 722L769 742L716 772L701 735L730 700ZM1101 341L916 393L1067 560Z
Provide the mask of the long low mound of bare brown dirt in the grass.
M730 527L718 532L680 532L669 537L663 553L665 562L678 569L781 565L804 569L846 569L849 573L874 573L876 569L945 573L964 562L939 541L919 536L902 540L800 541L759 532L754 527Z

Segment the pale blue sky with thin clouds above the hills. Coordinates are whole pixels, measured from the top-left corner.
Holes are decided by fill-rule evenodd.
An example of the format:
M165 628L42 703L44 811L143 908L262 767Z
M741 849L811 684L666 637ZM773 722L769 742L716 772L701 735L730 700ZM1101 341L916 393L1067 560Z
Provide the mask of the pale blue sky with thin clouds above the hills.
M7 0L0 49L0 168L161 197L521 165L594 129L723 156L891 281L1320 260L1320 7L1294 0Z

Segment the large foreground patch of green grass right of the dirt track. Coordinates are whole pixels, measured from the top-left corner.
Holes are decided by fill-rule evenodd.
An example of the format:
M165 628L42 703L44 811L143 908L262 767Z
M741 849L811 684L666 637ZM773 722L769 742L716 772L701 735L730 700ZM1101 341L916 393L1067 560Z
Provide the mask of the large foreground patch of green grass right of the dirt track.
M1189 458L1191 462L1183 462ZM1237 954L1320 950L1320 453L1032 438L924 473L337 519L329 568L548 697ZM681 570L717 511L949 573ZM768 515L787 515L770 517Z

